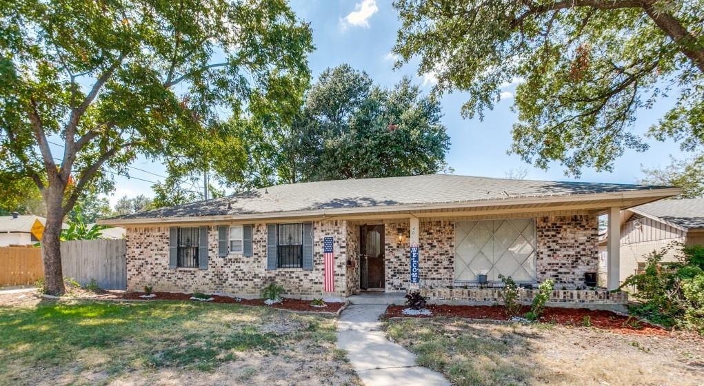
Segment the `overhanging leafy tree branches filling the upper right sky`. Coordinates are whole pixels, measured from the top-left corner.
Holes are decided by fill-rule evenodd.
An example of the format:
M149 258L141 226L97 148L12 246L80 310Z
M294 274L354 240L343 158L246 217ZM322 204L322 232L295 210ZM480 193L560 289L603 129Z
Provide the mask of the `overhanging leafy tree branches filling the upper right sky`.
M491 109L513 82L518 122L511 151L568 173L611 170L636 112L677 92L649 135L693 150L704 144L704 1L396 0L396 66L420 56L438 93L469 94L465 117Z

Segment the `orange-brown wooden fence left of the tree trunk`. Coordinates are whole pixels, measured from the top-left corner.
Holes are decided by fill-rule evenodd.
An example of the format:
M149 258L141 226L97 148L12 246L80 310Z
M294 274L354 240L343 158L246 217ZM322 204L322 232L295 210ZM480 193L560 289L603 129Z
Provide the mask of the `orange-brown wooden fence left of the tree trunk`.
M42 250L32 247L0 247L0 287L34 284L44 276Z

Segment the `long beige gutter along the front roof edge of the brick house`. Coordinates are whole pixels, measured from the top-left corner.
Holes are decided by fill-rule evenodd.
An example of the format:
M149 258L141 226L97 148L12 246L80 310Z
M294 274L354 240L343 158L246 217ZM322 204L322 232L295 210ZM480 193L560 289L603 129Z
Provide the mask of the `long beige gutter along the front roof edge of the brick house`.
M301 211L281 211L267 213L243 213L243 214L224 214L213 216L181 216L181 217L149 217L149 218L114 218L97 220L100 225L137 225L137 224L153 224L153 223L204 223L213 221L225 220L276 220L285 218L300 218L300 217L326 217L350 214L370 214L370 213L387 213L398 211L425 211L425 210L441 210L441 209L456 209L456 208L486 208L491 206L505 205L531 205L531 204L550 204L564 202L580 202L593 200L621 200L629 199L652 199L655 201L665 197L677 196L681 193L679 187L650 189L650 190L631 190L624 192L605 192L596 194L564 194L555 196L532 196L532 197L508 197L505 199L484 199L484 200L469 200L469 201L454 201L444 203L419 203L419 204L400 204L388 206L355 206L351 208L324 208L324 209L309 209ZM642 204L642 203L641 203ZM628 208L626 205L624 208ZM639 204L640 205L640 204Z

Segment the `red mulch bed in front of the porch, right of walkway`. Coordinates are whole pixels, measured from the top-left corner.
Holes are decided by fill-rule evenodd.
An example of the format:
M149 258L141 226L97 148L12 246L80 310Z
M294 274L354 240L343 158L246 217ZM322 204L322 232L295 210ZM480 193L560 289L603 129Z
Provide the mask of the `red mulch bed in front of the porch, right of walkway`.
M449 306L445 304L429 304L426 308L432 312L432 316L408 316L401 313L406 306L389 306L386 309L387 318L432 318L434 316L444 316L447 318L468 318L468 319L492 319L508 320L503 306ZM530 311L530 307L524 307L521 314ZM560 325L572 325L576 327L584 326L584 316L589 316L591 327L601 328L613 332L621 332L636 335L667 335L669 332L664 328L651 325L650 323L637 321L612 311L590 310L590 309L564 309L560 307L546 307L540 321L542 323L557 323ZM634 323L636 322L636 323Z

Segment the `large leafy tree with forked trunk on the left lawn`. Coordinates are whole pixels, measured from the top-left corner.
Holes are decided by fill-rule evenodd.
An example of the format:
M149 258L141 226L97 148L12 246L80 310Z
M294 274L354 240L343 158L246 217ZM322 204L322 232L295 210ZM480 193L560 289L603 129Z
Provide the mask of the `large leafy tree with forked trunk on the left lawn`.
M63 217L138 154L240 173L222 112L287 113L310 79L310 36L282 0L5 1L0 170L31 178L46 204L47 290L64 292Z

